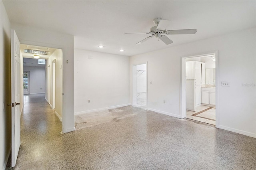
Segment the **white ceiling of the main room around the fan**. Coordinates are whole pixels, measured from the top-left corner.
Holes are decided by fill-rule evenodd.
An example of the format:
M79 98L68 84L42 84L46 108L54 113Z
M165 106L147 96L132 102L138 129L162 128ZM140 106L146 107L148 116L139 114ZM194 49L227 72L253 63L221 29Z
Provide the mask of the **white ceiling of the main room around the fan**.
M256 1L4 1L10 22L74 35L75 48L137 55L256 26ZM196 28L194 35L169 35L135 45L154 18L172 22L167 30ZM97 46L104 45L100 49ZM125 51L120 52L120 49Z

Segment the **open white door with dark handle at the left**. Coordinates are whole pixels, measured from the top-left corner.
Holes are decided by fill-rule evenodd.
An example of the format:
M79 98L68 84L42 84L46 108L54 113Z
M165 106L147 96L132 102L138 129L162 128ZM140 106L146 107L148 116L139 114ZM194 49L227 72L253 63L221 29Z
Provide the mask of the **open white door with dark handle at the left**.
M20 42L11 30L11 86L12 86L12 167L20 148Z

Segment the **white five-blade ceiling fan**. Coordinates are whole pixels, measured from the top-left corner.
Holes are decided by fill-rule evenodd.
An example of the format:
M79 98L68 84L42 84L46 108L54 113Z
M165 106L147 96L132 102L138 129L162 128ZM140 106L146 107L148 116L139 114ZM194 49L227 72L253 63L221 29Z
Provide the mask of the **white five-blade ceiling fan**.
M141 32L141 33L125 33L125 34L149 34L150 36L145 38L144 40L136 43L141 44L145 41L149 40L150 38L156 37L162 40L162 42L166 43L166 45L173 43L170 38L165 35L174 35L174 34L196 34L196 29L187 29L187 30L167 30L166 27L170 24L169 20L162 20L161 18L156 18L153 20L156 26L150 28L150 32Z

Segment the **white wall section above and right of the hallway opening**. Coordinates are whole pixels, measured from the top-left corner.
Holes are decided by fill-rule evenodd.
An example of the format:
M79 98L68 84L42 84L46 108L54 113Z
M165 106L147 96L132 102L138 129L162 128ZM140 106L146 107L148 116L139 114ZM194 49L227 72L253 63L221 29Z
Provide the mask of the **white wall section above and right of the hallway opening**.
M20 43L62 49L63 57L63 116L62 132L74 128L74 36L41 28L11 23ZM68 60L68 62L67 62Z

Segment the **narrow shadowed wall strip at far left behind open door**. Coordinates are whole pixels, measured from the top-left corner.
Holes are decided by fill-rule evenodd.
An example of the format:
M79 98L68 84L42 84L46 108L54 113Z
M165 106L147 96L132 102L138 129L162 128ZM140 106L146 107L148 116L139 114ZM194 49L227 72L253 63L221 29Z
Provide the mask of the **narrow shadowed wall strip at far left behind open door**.
M10 21L0 1L0 169L5 169L11 150L10 36Z

